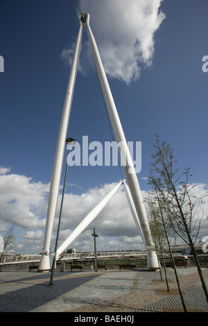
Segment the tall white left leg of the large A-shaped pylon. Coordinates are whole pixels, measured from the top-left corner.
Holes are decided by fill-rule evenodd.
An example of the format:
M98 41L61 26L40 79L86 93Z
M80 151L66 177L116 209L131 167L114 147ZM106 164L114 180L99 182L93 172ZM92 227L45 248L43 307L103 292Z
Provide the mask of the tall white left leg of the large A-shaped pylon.
M51 177L51 187L49 191L49 203L46 216L46 228L44 234L44 247L42 250L42 259L40 261L39 271L48 271L51 268L50 259L50 243L53 231L53 222L55 217L55 208L58 200L58 193L60 188L60 178L62 173L62 163L64 157L65 141L67 139L67 130L69 125L69 117L71 112L71 103L73 99L73 90L76 80L76 73L78 68L78 60L80 56L80 46L83 36L83 26L80 24L76 46L71 63L71 71L69 74L69 82L67 85L67 92L64 101L64 108L62 111L62 119L60 122L60 130L58 135L58 142L55 151L55 160L53 164L53 173Z

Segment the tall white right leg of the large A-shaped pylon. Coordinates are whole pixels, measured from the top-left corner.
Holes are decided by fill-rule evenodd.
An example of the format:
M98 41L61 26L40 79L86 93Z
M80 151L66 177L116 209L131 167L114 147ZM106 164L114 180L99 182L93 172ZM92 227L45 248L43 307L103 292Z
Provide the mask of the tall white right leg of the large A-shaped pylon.
M96 46L96 41L94 40L94 35L89 26L89 14L85 14L85 15L87 17L87 19L86 19L87 35L89 38L89 44L92 49L92 55L93 55L94 62L96 65L96 70L98 72L98 78L100 80L101 87L103 89L103 95L105 97L107 109L110 114L110 120L112 122L112 127L114 129L116 141L121 146L120 153L121 153L121 160L124 160L123 165L124 165L125 176L128 181L128 185L130 187L132 199L135 203L137 215L139 216L141 228L143 230L144 238L146 240L146 248L147 248L147 254L148 254L148 267L151 269L157 269L157 268L159 268L159 266L158 266L158 262L157 262L155 246L152 241L152 237L150 235L148 219L146 216L146 211L144 208L144 203L143 203L143 199L141 196L141 191L140 191L140 187L139 187L139 182L137 180L137 175L135 172L134 164L132 162L132 158L130 156L130 151L128 149L128 145L125 140L125 135L123 132L123 128L121 126L119 114L116 110L116 105L114 103L114 99L112 97L110 86L107 82L107 77L105 75L103 63L101 61L101 57L98 52L98 48Z

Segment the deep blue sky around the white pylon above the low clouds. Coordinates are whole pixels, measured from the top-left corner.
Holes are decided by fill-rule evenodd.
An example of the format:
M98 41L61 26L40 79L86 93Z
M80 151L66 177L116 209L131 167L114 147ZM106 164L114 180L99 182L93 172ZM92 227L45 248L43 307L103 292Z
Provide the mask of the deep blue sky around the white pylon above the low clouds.
M157 6L160 3L156 0L149 1L154 2ZM80 1L80 7L91 15L90 26L107 67L105 55L109 49L107 45L110 44L107 39L111 33L110 28L114 27L112 42L113 37L117 37L115 44L120 42L119 45L116 44L117 51L121 49L119 60L125 60L125 55L131 51L130 47L128 49L128 33L123 36L123 41L122 33L124 35L129 26L128 21L122 17L122 10L119 19L115 17L114 25L108 24L108 14L114 12L118 6L117 1L110 4L107 0L105 10L108 11L104 12L99 9L99 3L100 1ZM132 17L132 12L135 11L131 10L135 4L137 6L137 1L128 3ZM21 179L25 176L28 185L32 182L34 187L45 187L40 194L42 200L51 180L69 78L70 67L63 60L62 54L64 50L70 50L71 44L76 40L78 12L72 1L65 0L2 0L0 6L0 55L4 58L4 72L0 74L0 166L10 168L6 174L2 173L5 177L13 175L13 178ZM128 69L123 76L120 74L115 78L113 69L111 74L111 67L107 68L107 78L125 137L128 141L141 141L142 144L142 167L138 173L142 191L149 189L145 178L152 160L156 132L173 147L181 171L191 167L192 181L200 185L208 184L208 73L202 71L202 58L208 55L207 11L206 0L162 1L159 12L164 16L153 33L153 53L144 60L138 59L139 76L127 81ZM123 15L124 12L125 10ZM137 22L137 12L134 19ZM138 15L138 22L139 19L141 17ZM98 24L99 21L101 24ZM149 26L148 23L146 26ZM135 29L137 28L136 24ZM148 37L145 26L142 27L141 24L142 28L144 37ZM103 144L104 141L112 141L112 138L86 41L84 31L81 63L85 74L78 72L76 79L68 137L81 143L83 135L87 135L89 142L101 141ZM123 47L119 47L121 44ZM147 53L141 51L140 55ZM150 62L151 65L148 66ZM63 177L64 170L62 180ZM120 178L117 166L71 166L66 192L81 196L87 194L89 189L102 188L104 184L116 182ZM4 194L7 190L2 186L1 191ZM8 194L11 192L8 189ZM3 205L18 201L15 195L7 200L3 201ZM28 205L38 206L30 201ZM37 214L37 206L33 214ZM15 209L15 206L12 208ZM44 209L46 208L42 208L41 214L38 213L38 217L35 215L37 221L40 216L45 218ZM15 219L4 214L4 211L2 208L2 233ZM43 226L30 228L29 223L24 225L24 222L17 220L20 237L25 231L30 239L36 234L37 243L42 241L40 236L43 237L44 234ZM24 239L22 243L26 246L28 239L21 239ZM23 250L24 246L19 248ZM37 245L37 250L38 246L41 245Z

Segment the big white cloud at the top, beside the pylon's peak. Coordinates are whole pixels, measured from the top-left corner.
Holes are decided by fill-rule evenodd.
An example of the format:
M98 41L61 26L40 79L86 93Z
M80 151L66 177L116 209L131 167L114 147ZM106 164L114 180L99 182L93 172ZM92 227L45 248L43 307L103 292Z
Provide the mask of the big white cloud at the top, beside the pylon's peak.
M162 0L80 0L80 8L90 14L89 24L108 76L129 84L138 80L142 65L152 65L154 35L165 18L159 12L161 3ZM89 58L89 47L86 43L84 46L81 61ZM68 61L72 49L70 46L62 53Z

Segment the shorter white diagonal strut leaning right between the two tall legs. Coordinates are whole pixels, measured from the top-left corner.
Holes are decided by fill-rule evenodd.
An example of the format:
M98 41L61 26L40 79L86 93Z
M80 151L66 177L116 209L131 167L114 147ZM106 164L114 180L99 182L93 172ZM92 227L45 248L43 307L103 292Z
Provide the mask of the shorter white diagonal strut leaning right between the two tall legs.
M94 219L96 218L96 216L98 216L98 214L105 207L105 205L107 205L107 203L109 202L109 200L114 196L114 194L116 194L116 191L119 190L119 187L121 186L121 183L123 183L123 180L121 180L119 182L119 184L116 185L100 201L100 203L98 203L98 205L96 205L96 207L94 207L94 209L92 209L92 211L89 212L89 214L87 214L87 216L85 216L85 218L83 219L83 221L80 222L80 224L77 226L77 228L75 230L73 230L73 232L71 232L71 234L69 235L69 237L67 238L67 240L65 240L62 243L62 245L58 248L57 254L56 254L56 259L58 259L58 257L60 256L60 254L78 237L78 235L80 235L81 232L83 232L87 228L87 226L89 225L89 223L91 223L92 221L94 221Z

